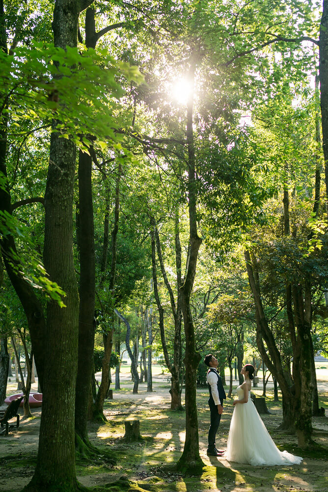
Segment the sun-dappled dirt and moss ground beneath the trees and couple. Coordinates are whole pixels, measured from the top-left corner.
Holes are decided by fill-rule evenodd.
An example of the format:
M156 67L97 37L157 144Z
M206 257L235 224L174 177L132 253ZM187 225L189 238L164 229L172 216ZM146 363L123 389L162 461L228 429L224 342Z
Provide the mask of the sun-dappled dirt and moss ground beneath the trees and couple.
M179 459L184 443L183 412L170 412L168 385L154 384L154 392L139 386L139 394L132 394L132 386L125 383L121 391L114 392L114 400L106 403L105 414L109 424L90 425L89 437L94 444L109 446L119 453L118 465L77 464L78 480L87 487L105 486L127 476L140 489L167 492L328 492L328 418L314 418L314 439L326 452L304 454L297 449L295 436L276 431L281 421L280 407L271 405L272 415L263 415L268 431L280 449L303 456L295 466L250 466L229 463L222 458L207 457L207 432L209 410L207 390L198 390L200 454L206 467L202 477L171 475L163 471L163 464ZM261 392L259 392L259 395ZM326 396L328 396L326 394ZM327 399L326 399L327 401ZM217 447L226 449L232 403L228 401L218 431ZM38 446L41 411L33 409L33 418L21 418L18 431L0 436L0 491L18 492L32 477ZM326 405L326 415L328 407ZM138 418L145 443L123 445L124 420ZM282 446L282 447L281 447ZM293 451L294 449L294 451ZM156 485L157 484L157 485ZM110 489L109 489L110 490ZM131 489L132 490L132 489Z

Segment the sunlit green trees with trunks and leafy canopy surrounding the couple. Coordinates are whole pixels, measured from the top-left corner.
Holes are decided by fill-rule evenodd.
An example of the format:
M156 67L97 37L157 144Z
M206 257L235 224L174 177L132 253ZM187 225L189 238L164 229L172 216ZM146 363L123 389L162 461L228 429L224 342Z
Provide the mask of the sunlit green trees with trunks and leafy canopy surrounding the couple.
M18 337L26 415L32 356L43 393L26 490L80 487L75 453L97 453L88 419L105 419L113 345L121 355L125 342L137 393L139 337L149 391L153 343L172 409L185 384L179 470L203 466L208 351L231 375L258 353L282 392L281 428L314 446L327 2L1 0L0 46L0 397Z

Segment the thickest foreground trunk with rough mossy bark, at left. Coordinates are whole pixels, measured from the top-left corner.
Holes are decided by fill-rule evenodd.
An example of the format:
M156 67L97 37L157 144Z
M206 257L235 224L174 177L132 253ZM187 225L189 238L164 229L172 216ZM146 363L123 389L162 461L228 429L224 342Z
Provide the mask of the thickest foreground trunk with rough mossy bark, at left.
M56 0L55 45L77 46L80 1ZM53 123L55 127L57 122ZM75 473L74 406L79 300L73 262L75 145L52 133L45 193L44 265L65 291L65 307L48 303L47 344L39 448L31 491L78 489Z

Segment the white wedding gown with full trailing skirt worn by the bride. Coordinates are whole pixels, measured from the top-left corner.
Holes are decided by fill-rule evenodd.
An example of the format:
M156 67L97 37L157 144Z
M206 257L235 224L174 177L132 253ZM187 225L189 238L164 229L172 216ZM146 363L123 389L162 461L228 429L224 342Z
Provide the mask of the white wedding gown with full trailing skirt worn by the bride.
M239 400L244 398L244 391L240 386L237 388L237 395ZM249 392L247 403L239 403L235 406L226 459L251 465L290 465L299 464L303 458L287 451L279 451L258 414Z

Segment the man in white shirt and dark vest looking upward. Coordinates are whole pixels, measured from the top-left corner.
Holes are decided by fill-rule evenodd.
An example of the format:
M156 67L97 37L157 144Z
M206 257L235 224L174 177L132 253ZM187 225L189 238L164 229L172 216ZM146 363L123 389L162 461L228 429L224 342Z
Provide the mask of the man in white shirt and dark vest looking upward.
M219 427L221 415L223 413L223 400L225 400L226 393L223 388L223 384L219 373L217 372L218 362L212 354L205 357L204 363L209 367L207 373L207 382L209 386L209 409L210 409L210 426L209 426L209 445L207 454L208 456L221 456L224 452L219 451L215 447L215 435Z

